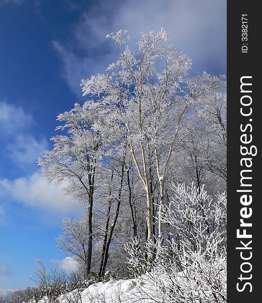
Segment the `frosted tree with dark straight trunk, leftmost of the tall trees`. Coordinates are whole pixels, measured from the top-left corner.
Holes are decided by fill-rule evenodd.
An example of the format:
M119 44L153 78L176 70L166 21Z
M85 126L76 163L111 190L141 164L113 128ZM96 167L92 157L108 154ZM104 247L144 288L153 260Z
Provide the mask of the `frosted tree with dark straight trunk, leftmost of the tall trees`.
M90 101L83 106L75 104L70 112L58 115L64 122L56 130L67 130L67 135L51 138L54 147L39 158L42 174L55 185L66 184L64 192L88 206L88 246L86 275L91 269L93 243L93 197L97 187L95 176L100 165L102 137L93 126L101 123L99 104ZM99 122L100 121L100 122Z

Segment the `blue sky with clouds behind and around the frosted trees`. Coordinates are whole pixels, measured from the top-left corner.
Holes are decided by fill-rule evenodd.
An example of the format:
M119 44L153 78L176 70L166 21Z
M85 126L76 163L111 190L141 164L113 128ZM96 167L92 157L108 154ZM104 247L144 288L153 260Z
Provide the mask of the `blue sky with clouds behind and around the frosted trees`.
M161 27L192 58L191 75L226 73L225 0L0 0L0 289L34 285L34 259L69 265L55 237L81 206L48 186L36 159L56 116L86 100L81 78L117 59L106 34L127 29L135 47Z

